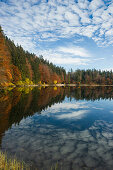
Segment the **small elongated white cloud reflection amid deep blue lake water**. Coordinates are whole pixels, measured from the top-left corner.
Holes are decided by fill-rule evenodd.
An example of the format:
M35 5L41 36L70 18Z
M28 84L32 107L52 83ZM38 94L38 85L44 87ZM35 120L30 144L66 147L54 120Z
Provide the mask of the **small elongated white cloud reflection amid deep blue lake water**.
M88 110L79 110L79 111L75 111L75 112L72 112L72 113L67 113L67 114L61 114L61 115L58 115L57 118L59 119L70 119L70 118L82 118L84 116L84 114L88 113L89 111Z

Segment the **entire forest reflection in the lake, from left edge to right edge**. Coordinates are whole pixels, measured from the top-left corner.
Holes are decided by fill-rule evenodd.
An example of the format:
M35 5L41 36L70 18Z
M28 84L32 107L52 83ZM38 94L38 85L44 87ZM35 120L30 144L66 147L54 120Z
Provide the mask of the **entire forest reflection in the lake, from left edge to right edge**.
M55 103L62 102L67 96L76 100L112 99L112 87L45 87L18 88L0 93L0 134L3 134L12 124L19 123L23 118L41 113ZM1 139L0 139L1 140ZM0 141L1 143L1 141Z

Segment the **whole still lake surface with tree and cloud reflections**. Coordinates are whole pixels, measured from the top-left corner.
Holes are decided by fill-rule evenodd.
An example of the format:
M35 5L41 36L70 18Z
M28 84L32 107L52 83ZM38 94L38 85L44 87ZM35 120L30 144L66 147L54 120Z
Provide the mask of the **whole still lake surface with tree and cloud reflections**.
M113 88L1 90L0 149L31 169L112 170Z

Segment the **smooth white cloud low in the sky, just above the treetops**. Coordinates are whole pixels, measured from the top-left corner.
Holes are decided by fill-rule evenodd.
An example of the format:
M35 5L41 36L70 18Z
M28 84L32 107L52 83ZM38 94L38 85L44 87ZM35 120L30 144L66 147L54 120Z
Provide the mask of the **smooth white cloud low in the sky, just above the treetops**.
M49 50L39 50L37 55L43 55L45 59L55 64L87 65L91 54L81 47L59 47Z

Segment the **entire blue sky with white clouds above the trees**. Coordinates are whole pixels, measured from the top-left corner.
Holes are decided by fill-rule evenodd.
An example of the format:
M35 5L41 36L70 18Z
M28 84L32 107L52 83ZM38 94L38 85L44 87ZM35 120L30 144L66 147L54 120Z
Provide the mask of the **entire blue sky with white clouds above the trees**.
M112 0L0 0L5 34L67 71L113 69Z

